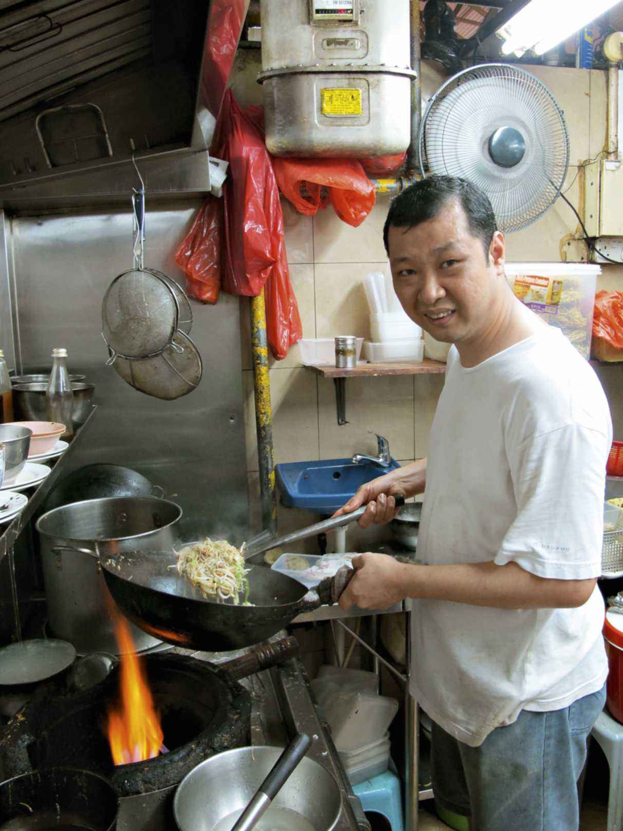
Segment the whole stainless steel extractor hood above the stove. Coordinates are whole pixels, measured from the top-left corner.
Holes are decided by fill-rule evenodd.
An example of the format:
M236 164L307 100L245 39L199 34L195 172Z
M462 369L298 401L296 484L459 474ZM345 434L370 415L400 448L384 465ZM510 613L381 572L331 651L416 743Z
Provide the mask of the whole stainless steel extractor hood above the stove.
M208 0L0 0L0 208L208 193ZM205 125L208 125L207 127Z

